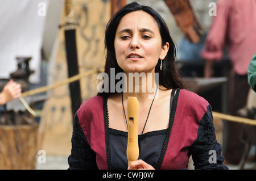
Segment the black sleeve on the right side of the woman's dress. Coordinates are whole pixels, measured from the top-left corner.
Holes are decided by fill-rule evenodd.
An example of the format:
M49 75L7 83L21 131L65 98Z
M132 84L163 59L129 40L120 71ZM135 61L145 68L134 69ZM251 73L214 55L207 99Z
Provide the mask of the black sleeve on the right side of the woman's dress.
M197 138L189 154L192 155L195 169L225 169L224 157L221 155L221 145L218 144L213 127L212 108L207 107L207 112L200 120Z

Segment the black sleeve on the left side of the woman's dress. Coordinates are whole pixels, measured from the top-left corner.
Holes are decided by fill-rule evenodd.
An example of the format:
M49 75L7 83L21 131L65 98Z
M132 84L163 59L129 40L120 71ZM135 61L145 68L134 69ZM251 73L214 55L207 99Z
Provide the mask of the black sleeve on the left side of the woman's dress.
M84 132L79 124L77 114L74 117L73 134L72 134L71 155L68 157L68 170L74 169L98 169L96 164L96 154L86 140Z

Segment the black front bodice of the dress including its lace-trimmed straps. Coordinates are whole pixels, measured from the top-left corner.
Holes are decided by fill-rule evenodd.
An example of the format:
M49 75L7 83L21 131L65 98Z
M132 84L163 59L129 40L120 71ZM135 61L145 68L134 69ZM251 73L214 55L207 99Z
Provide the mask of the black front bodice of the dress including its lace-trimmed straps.
M155 169L160 169L164 154L167 150L172 124L174 123L178 96L179 90L177 90L175 96L174 93L172 93L168 128L160 131L147 132L138 136L139 159L146 161ZM128 161L126 157L126 148L128 135L127 132L109 128L107 100L108 98L104 98L103 109L105 119L106 156L108 161L108 168L127 169Z

